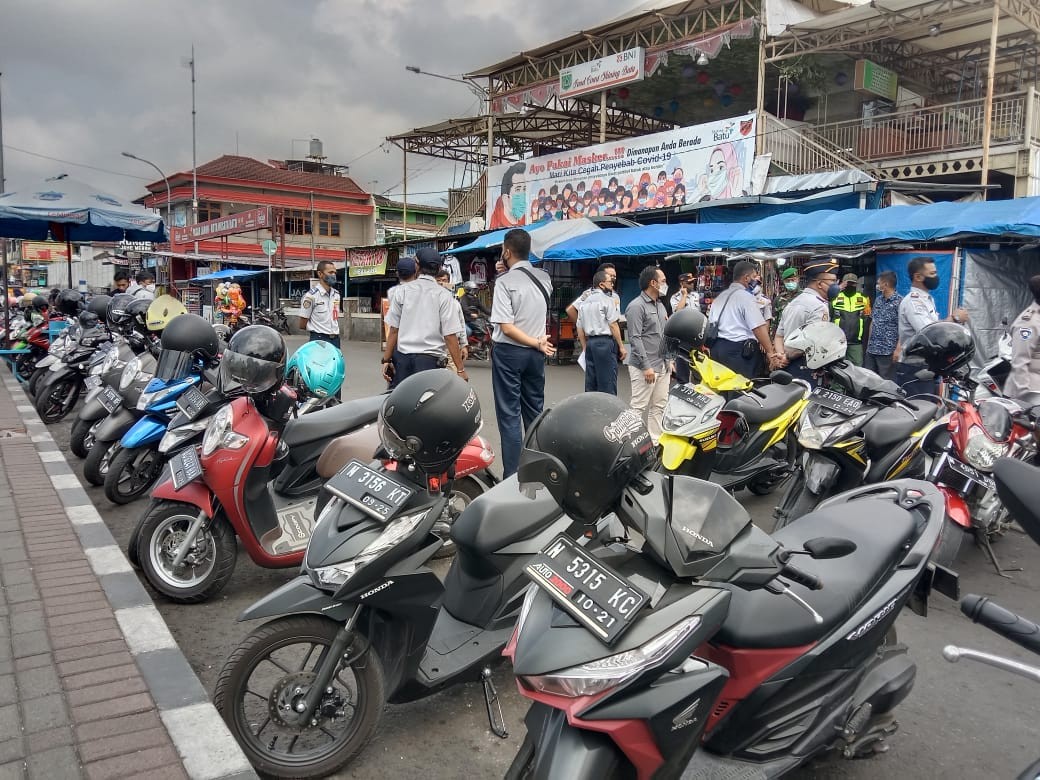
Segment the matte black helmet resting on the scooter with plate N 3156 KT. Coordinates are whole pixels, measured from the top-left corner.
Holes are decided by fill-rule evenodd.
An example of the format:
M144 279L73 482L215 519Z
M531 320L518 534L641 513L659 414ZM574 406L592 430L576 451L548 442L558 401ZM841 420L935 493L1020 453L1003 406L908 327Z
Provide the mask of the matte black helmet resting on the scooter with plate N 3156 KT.
M476 391L443 368L412 374L380 410L386 450L430 475L447 471L482 424Z

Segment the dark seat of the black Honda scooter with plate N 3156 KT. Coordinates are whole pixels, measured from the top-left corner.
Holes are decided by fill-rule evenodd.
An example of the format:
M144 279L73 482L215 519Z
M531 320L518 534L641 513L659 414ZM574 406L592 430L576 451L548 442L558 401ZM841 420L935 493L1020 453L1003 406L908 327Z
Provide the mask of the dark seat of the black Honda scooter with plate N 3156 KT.
M560 506L547 490L534 498L520 491L516 476L472 501L451 525L451 539L478 556L536 536L561 515Z

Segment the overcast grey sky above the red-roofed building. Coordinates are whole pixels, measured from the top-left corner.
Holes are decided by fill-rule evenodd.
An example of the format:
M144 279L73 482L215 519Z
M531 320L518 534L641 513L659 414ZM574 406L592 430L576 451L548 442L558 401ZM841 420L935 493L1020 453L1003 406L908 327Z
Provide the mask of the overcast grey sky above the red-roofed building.
M316 136L371 191L401 194L387 135L470 115L458 75L615 18L638 0L4 0L0 22L7 190L68 173L122 197L191 167L196 48L199 164L285 159ZM517 16L512 16L517 15ZM295 156L307 144L295 144ZM47 159L55 158L55 159ZM78 164L71 164L78 163ZM83 167L83 165L92 167ZM437 203L461 174L409 157L409 191ZM410 198L411 199L411 198Z

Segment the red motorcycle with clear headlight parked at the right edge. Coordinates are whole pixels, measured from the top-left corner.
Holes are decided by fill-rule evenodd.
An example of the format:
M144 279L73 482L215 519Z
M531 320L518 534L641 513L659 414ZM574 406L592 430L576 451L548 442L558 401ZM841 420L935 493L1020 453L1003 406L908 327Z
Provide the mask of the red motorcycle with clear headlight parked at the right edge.
M1040 407L1026 411L1016 401L993 396L977 400L977 385L966 368L943 379L956 388L958 399L943 401L952 410L946 424L930 431L922 444L933 459L928 479L946 497L946 515L956 526L943 538L939 562L952 566L965 534L970 534L996 573L1008 576L992 541L1007 532L1012 518L991 474L999 458L1032 460L1036 456L1034 432Z

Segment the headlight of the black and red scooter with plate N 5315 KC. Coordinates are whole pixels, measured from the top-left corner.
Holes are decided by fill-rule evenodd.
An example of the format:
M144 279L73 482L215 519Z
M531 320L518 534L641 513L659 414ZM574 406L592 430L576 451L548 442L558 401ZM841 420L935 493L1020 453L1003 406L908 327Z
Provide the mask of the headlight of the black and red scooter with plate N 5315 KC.
M571 667L560 672L544 675L526 675L520 681L528 688L545 694L566 696L574 699L579 696L595 696L612 687L617 687L645 670L659 664L671 655L675 649L697 630L701 624L700 616L694 615L679 621L667 631L658 633L652 640L634 650L626 650L617 655Z

